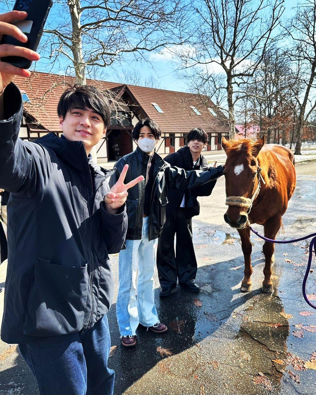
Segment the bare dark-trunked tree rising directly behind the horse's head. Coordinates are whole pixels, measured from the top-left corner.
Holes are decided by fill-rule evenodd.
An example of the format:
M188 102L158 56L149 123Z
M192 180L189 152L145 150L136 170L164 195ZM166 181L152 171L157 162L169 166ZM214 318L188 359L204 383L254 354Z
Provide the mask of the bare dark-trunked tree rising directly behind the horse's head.
M182 56L182 68L194 69L191 76L195 84L210 85L211 93L226 90L230 138L235 135L234 106L243 97L243 92L236 92L252 77L275 42L273 32L284 11L282 3L282 0L204 0L196 9L195 40ZM214 78L218 66L225 79L220 79L219 84Z

